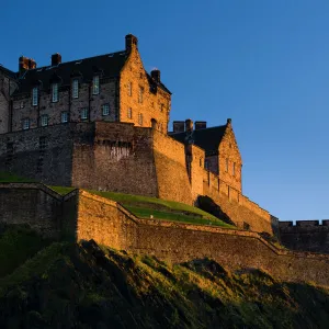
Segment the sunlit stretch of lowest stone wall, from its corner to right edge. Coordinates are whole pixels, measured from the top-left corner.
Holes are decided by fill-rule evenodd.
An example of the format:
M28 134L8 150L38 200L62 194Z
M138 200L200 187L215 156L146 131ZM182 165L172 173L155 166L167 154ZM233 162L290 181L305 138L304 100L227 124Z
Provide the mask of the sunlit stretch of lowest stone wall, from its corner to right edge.
M329 257L281 250L258 234L219 227L137 219L87 192L79 196L77 237L151 254L173 263L209 257L232 271L262 269L276 277L329 285Z

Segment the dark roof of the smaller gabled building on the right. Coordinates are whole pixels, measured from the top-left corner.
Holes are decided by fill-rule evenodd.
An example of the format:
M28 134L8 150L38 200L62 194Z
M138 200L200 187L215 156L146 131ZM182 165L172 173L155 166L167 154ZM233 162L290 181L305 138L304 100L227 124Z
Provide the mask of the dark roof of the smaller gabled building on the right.
M218 147L225 134L226 127L227 125L204 129L193 129L190 138L193 139L193 144L204 149L206 154L218 151ZM169 133L169 135L180 143L184 143L188 136L186 132Z

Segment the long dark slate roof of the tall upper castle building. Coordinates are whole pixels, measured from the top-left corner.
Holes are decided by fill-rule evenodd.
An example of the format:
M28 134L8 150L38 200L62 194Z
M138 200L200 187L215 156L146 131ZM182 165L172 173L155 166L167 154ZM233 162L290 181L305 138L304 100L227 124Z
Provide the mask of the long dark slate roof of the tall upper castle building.
M126 63L128 53L125 50L77 59L72 61L61 63L57 66L45 66L26 70L20 78L20 87L16 94L31 92L32 86L42 82L43 89L50 88L52 80L61 81L63 86L70 86L72 76L79 76L83 81L91 81L95 72L100 72L102 78L115 78L120 76L123 66ZM149 77L149 75L147 75ZM150 78L151 79L151 78ZM152 83L156 83L151 79ZM149 80L149 82L151 82ZM170 92L162 83L159 87Z

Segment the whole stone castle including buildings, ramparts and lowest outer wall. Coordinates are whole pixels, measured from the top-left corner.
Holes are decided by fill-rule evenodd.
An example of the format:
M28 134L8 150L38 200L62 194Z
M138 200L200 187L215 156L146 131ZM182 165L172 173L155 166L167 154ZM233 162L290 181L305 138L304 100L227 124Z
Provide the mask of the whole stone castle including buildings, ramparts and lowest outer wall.
M138 41L125 49L19 71L0 66L0 172L41 183L0 183L0 223L29 224L44 236L99 243L183 262L211 257L232 270L262 268L288 281L329 285L329 220L281 222L242 194L242 159L231 120L173 122L171 92L146 72ZM75 186L65 196L47 185ZM86 190L197 205L209 197L238 229L137 218ZM319 242L321 241L321 242Z

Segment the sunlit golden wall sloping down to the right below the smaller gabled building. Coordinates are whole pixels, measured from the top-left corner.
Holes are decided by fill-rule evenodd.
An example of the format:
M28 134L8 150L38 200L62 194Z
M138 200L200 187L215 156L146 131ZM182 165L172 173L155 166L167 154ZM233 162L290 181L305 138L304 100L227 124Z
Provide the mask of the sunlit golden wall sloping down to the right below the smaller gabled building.
M271 235L277 231L277 222L269 212L207 171L204 195L212 197L239 228Z

